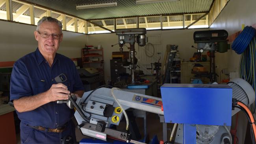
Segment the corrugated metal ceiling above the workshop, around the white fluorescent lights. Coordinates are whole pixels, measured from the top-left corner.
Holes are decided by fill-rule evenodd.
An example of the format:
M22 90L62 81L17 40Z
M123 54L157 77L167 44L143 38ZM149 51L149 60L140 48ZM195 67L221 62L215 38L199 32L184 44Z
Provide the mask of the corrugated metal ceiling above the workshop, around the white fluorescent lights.
M120 18L209 11L213 0L180 0L137 5L135 0L26 0L83 19ZM117 2L117 7L76 9L76 5Z

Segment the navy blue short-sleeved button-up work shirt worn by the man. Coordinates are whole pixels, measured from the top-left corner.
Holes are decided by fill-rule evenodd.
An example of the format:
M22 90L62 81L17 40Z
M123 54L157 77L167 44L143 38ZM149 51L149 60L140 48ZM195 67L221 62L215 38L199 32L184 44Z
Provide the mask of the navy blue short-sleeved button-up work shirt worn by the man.
M70 92L84 90L82 81L73 61L61 54L56 54L50 67L39 49L25 55L15 62L11 73L10 100L17 100L23 96L34 96L50 89L56 76L65 74ZM37 109L19 113L19 119L30 126L57 128L67 123L74 115L66 103L46 103Z

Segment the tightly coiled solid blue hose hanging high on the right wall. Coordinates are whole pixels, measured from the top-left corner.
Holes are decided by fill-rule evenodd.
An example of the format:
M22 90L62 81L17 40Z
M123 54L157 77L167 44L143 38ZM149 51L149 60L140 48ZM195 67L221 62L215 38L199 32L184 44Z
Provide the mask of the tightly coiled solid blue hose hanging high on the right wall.
M235 41L232 44L232 49L237 54L242 54L249 43L252 41L252 38L255 35L255 29L251 26L246 26L243 31L238 35Z

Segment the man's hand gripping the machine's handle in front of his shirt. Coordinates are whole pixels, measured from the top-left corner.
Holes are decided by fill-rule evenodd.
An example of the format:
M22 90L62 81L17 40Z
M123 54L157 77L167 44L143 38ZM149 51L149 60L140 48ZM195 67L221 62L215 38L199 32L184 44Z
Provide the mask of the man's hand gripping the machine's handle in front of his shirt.
M63 83L53 84L52 87L46 91L46 99L49 102L56 100L68 100L70 97L70 91Z

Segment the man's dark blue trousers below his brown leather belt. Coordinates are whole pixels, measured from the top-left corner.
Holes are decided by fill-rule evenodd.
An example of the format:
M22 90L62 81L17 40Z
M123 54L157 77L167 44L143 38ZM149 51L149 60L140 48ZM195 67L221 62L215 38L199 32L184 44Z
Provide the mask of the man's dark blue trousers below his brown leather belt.
M68 136L76 139L75 126L72 120L68 122L65 131L61 133L40 131L20 122L21 144L61 144L61 139Z

